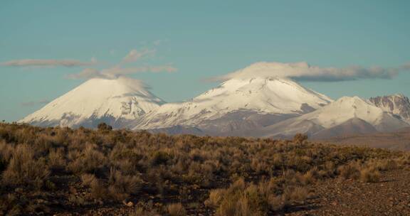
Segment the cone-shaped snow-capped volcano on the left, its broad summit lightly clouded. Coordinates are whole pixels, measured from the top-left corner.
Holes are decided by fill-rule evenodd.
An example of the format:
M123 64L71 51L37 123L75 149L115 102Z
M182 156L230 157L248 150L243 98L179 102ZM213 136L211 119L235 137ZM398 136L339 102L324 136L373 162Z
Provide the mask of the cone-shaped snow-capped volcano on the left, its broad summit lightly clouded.
M160 104L164 104L162 99L147 91L139 80L94 78L21 119L21 122L38 126L95 127L103 121L121 127Z

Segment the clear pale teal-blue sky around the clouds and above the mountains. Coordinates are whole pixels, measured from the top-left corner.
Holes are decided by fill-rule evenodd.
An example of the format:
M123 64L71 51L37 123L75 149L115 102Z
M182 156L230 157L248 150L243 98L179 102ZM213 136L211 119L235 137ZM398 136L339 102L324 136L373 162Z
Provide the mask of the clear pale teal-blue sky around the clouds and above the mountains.
M0 63L98 60L102 69L130 50L155 50L132 67L166 100L189 99L204 82L260 61L319 67L410 62L410 1L0 1ZM0 119L16 121L80 85L81 67L0 66ZM391 79L302 82L334 99L396 92L410 96L410 72Z

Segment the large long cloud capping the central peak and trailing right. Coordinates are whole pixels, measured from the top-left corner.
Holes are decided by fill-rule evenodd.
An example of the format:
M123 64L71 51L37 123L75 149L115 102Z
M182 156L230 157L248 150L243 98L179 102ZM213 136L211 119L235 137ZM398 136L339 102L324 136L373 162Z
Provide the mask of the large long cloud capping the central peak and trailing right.
M227 75L212 77L211 81L247 79L252 77L288 77L295 80L310 81L343 81L343 80L361 80L361 79L390 79L397 75L400 68L382 68L372 67L364 68L360 66L351 66L347 68L321 68L312 66L308 63L255 63L231 72Z

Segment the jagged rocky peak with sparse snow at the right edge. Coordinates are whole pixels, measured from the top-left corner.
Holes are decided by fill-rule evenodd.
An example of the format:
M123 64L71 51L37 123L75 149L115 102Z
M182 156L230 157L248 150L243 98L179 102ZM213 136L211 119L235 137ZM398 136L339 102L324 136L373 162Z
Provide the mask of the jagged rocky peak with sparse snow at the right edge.
M410 123L410 100L401 94L389 95L383 97L371 97L369 99L376 107L386 112L398 115L404 121Z

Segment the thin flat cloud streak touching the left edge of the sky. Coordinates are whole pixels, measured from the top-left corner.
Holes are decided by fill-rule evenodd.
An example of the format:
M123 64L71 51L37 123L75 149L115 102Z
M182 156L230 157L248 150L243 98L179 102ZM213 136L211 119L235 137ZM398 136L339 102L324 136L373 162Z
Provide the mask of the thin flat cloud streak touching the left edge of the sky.
M20 60L10 60L4 63L0 63L1 66L9 67L79 67L79 66L90 66L95 65L97 60L92 58L90 62L83 62L80 60L55 60L55 59L20 59Z

